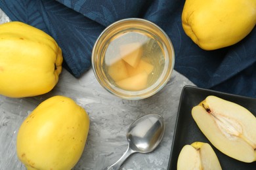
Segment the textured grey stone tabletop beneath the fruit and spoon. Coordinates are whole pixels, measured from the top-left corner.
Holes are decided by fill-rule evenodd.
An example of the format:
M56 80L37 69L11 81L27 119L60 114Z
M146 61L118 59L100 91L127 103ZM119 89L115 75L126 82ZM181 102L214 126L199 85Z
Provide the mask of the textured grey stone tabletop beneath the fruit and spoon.
M9 18L0 10L0 21ZM105 169L127 149L126 131L140 116L157 113L165 119L166 129L160 146L148 154L135 153L121 169L167 169L181 90L193 85L173 71L171 80L156 95L139 101L119 99L97 82L92 69L74 78L65 69L55 88L44 95L10 98L0 95L0 170L26 169L16 156L16 135L23 120L39 103L54 95L65 95L87 110L91 125L83 155L74 169Z

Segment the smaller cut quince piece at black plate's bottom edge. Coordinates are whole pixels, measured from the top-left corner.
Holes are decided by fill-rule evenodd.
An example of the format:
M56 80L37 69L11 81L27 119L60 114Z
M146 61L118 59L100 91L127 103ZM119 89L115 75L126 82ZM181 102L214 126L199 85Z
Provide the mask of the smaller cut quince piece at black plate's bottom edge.
M177 161L177 170L221 170L221 164L213 148L208 143L194 142L181 149Z

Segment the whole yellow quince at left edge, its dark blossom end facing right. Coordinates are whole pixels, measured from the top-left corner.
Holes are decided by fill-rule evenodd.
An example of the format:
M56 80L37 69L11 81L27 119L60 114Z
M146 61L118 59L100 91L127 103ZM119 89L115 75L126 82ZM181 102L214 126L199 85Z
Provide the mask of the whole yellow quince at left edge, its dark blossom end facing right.
M30 97L51 91L62 50L47 33L22 22L0 25L0 94Z

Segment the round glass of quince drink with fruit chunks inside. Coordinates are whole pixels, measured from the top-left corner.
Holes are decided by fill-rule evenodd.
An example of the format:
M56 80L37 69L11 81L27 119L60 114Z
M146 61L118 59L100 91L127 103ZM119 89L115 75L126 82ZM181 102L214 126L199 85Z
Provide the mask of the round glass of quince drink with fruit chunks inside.
M100 35L92 62L96 78L108 92L125 99L142 99L167 83L174 51L157 25L133 18L110 25Z

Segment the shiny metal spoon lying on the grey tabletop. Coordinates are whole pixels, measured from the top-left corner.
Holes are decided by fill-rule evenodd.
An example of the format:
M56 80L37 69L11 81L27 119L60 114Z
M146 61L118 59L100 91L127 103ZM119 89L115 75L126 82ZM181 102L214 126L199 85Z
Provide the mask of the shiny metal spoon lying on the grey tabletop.
M119 160L108 167L108 170L117 170L122 163L133 153L152 152L163 138L165 123L158 114L147 114L137 119L127 131L128 148Z

